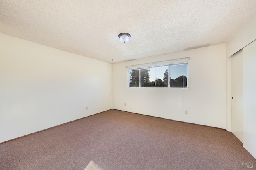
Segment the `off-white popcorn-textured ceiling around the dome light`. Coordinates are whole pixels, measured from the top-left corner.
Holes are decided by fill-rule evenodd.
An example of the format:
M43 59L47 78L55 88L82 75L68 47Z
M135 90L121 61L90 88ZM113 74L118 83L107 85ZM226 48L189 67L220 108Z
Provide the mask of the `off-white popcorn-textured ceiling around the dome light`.
M0 0L0 33L118 63L225 43L255 13L256 0Z

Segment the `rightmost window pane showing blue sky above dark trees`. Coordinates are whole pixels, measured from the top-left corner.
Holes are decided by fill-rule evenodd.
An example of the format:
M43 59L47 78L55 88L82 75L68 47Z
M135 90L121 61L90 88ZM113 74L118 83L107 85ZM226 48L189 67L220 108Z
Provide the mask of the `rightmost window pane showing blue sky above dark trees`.
M188 64L170 66L171 87L187 87L187 66Z

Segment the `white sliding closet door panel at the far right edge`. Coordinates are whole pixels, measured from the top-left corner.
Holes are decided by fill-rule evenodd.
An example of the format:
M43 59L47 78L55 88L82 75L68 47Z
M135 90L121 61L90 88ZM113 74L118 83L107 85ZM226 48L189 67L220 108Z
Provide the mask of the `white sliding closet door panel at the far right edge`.
M256 40L243 49L244 147L256 158Z

